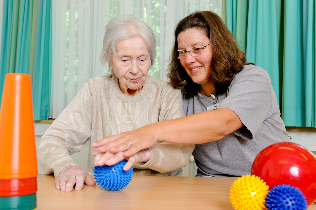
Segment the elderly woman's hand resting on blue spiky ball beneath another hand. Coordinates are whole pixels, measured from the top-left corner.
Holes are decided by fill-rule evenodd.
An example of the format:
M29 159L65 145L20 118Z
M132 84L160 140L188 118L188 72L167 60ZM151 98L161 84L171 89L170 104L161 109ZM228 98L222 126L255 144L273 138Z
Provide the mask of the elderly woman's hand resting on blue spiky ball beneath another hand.
M118 163L121 160L125 159L123 152L112 153L110 151L100 152L99 150L95 150L92 152L92 155L95 157L94 165L95 166L103 166L108 165L112 166ZM132 155L127 159L127 163L123 167L124 171L128 171L134 163L147 162L151 158L151 151L149 149L144 149L136 154Z

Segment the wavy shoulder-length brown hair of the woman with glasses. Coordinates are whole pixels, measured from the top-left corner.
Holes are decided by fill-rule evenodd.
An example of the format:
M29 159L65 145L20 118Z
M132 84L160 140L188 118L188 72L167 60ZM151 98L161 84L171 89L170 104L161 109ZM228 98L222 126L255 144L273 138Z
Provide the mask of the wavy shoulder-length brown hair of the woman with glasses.
M214 12L197 11L180 20L174 32L174 46L169 65L168 77L174 87L184 87L186 95L195 95L200 85L194 83L182 67L180 60L174 56L178 50L178 34L190 28L202 29L210 39L213 48L211 61L211 76L216 93L227 91L234 75L240 72L246 64L246 55L228 30L222 19Z

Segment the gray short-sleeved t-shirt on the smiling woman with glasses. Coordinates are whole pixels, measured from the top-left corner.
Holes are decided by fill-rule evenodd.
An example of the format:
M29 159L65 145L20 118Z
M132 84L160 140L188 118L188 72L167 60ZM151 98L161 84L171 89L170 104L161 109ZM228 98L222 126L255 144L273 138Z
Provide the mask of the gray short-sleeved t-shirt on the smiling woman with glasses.
M182 91L183 93L183 91ZM226 93L216 95L217 109L228 108L244 124L219 141L196 144L193 156L197 175L242 176L251 174L258 153L276 142L288 141L279 105L268 73L257 66L246 65L237 73ZM186 115L207 110L214 100L197 93L184 96ZM210 119L216 122L217 119Z

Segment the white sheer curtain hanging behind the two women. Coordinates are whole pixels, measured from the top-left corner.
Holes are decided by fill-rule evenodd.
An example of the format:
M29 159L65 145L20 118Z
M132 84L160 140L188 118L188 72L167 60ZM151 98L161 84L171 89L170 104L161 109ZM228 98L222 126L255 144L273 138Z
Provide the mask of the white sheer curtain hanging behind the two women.
M52 0L49 117L58 117L88 79L108 73L99 59L108 20L132 14L154 30L157 59L149 74L167 80L165 69L174 41L173 30L180 19L195 10L210 10L221 16L222 0Z

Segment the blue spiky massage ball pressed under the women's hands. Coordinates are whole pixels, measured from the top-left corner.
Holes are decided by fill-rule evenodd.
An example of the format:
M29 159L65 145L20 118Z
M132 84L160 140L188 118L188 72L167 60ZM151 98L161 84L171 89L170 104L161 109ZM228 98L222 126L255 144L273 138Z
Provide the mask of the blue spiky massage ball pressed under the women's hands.
M123 170L127 160L122 160L113 166L94 166L95 181L106 190L121 190L131 181L133 167L128 171Z

